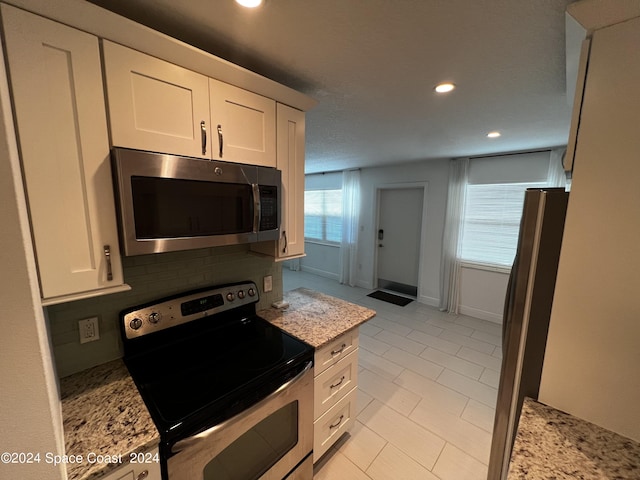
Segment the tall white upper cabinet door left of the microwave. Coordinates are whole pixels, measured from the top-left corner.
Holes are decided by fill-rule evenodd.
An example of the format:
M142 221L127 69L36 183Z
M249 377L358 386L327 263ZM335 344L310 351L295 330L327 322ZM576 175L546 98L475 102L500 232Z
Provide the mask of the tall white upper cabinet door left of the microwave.
M2 15L43 298L121 290L98 39L4 4Z

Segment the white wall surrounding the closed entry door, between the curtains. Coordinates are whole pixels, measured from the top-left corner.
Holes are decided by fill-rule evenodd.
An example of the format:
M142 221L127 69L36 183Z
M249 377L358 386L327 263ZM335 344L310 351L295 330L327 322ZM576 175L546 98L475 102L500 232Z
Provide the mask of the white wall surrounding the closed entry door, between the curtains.
M424 182L427 187L425 258L420 265L419 301L437 306L440 300L440 258L449 183L448 160L429 160L360 171L360 236L358 239L358 286L373 288L377 245L376 189L380 185ZM401 214L401 212L399 212Z

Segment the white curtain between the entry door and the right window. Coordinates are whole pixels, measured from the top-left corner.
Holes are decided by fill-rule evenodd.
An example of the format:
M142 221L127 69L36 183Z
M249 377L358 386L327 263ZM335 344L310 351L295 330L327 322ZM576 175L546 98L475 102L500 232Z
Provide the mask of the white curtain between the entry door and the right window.
M460 262L458 244L464 210L464 195L469 168L468 158L456 158L449 164L449 192L440 262L440 310L458 313Z

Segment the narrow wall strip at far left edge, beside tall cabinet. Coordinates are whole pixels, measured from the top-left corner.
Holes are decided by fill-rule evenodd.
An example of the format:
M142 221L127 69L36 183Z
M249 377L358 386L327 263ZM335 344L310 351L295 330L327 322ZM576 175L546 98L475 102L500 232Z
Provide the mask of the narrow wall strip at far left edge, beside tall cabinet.
M20 176L4 63L0 65L0 452L64 453L62 415ZM0 478L66 478L44 461L0 463Z

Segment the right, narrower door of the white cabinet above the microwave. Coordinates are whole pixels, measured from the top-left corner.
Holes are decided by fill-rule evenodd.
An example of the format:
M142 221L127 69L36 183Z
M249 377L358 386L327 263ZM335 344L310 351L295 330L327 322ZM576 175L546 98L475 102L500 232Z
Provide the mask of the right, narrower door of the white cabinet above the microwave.
M276 102L209 79L212 158L276 166Z

